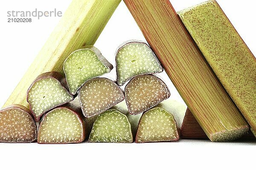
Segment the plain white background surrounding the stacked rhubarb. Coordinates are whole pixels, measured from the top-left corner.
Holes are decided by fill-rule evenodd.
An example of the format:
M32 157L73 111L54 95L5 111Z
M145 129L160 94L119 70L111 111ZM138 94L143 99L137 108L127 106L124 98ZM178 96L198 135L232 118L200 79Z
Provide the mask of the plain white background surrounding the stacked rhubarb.
M170 0L176 11L204 0ZM7 11L64 11L71 0L8 0L0 3L0 107L32 63L60 17L32 18L32 23L7 23ZM253 54L256 54L253 0L218 0ZM126 40L145 40L123 2L95 46L114 65L116 47ZM115 78L114 71L111 76ZM182 101L165 73L171 97ZM3 144L0 170L7 169L255 169L256 144L180 140L145 144Z

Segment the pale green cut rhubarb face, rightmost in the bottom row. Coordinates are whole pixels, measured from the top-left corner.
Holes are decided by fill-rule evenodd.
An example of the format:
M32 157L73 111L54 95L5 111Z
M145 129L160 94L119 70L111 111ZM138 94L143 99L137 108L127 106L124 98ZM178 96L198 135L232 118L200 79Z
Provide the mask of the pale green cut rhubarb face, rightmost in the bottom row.
M162 108L152 108L141 116L136 142L176 141L180 139L174 117Z

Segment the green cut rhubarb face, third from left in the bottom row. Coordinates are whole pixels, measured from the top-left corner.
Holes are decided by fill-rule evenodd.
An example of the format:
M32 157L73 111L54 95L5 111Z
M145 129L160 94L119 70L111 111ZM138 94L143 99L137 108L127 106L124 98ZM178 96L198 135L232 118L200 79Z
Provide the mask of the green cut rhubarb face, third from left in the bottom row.
M93 123L89 142L133 142L127 116L114 109L100 113Z

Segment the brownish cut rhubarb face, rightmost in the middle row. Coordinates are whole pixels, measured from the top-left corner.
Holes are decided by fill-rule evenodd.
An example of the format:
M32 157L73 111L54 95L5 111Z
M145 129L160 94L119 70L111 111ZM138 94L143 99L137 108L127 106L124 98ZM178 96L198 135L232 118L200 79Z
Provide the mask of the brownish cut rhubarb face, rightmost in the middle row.
M169 96L166 84L151 74L136 76L125 86L126 104L133 115L147 111Z

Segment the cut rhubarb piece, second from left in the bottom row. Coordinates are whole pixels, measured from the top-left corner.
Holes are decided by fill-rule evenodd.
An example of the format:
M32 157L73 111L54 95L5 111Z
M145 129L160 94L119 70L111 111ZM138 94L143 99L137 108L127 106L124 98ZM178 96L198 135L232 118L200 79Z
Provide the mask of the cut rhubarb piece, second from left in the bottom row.
M46 113L38 130L38 143L79 143L90 133L90 125L84 122L81 108L70 103Z

